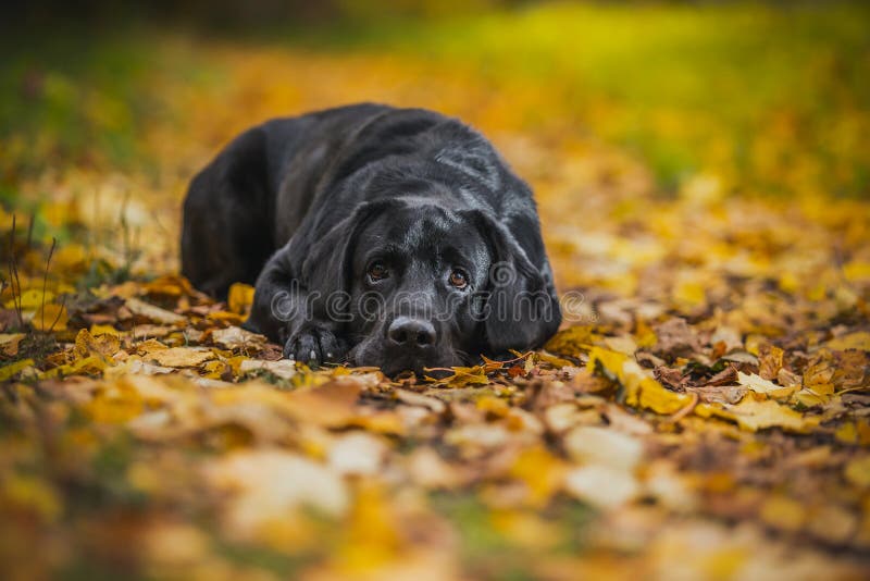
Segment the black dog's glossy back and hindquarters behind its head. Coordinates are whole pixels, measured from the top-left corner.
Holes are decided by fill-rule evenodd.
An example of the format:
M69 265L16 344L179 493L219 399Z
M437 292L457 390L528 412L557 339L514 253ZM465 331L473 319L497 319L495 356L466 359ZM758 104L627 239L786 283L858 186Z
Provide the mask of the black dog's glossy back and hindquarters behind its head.
M353 104L271 120L229 143L190 184L182 273L224 298L234 282L253 284L306 222L319 231L361 196L395 196L390 184L409 178L451 184L439 200L448 207L535 214L527 186L467 125L424 109Z

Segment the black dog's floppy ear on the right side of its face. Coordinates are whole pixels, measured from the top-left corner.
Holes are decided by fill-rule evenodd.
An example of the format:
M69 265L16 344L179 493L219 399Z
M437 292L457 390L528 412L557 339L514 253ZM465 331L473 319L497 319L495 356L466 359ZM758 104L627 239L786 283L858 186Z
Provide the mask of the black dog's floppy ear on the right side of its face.
M482 210L470 214L493 257L482 313L489 348L497 354L539 347L562 320L546 257L540 267L533 264L505 225Z

